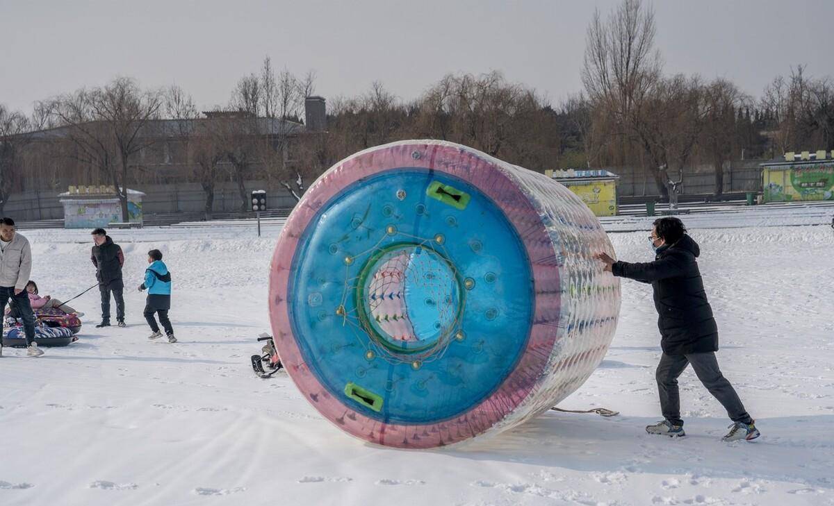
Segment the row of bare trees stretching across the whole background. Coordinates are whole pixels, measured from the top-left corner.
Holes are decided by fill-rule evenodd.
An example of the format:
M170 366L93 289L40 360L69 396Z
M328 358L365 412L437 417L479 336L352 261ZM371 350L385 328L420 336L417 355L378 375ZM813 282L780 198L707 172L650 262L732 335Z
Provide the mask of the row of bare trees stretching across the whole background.
M309 132L301 117L314 72L276 71L269 57L239 79L228 106L207 114L179 87L144 89L128 77L38 102L31 116L0 107L0 211L21 181L23 153L38 131L53 127L66 135L51 156L75 161L117 188L124 219L128 184L153 176L143 151L171 139L182 162L173 181L202 185L206 216L219 181L234 181L241 210L249 206L247 180L298 200L309 181L344 156L408 138L459 142L535 171L636 166L671 199L686 167L711 165L721 194L724 167L744 153L834 149L830 78L796 67L754 99L725 78L666 74L655 35L654 12L641 0L623 0L605 16L595 12L584 89L558 107L500 72L449 74L413 100L380 82L359 96L335 97L327 131Z

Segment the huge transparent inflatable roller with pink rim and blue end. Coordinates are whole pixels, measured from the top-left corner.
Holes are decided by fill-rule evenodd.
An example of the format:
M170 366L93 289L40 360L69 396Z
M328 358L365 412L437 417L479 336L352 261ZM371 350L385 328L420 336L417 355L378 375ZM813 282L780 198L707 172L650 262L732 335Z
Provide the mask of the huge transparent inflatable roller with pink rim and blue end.
M600 364L620 311L600 222L550 178L444 141L309 187L269 279L274 342L339 429L431 448L521 424Z

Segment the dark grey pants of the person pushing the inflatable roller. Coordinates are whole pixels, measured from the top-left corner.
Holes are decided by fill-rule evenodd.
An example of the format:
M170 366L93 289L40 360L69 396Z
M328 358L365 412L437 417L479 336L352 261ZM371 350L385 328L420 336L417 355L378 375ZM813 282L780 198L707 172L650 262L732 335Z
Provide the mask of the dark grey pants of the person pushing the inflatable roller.
M678 394L677 379L686 369L686 365L692 365L698 379L706 386L713 397L727 410L727 414L734 422L752 423L752 419L741 404L736 390L732 388L729 381L718 369L716 354L692 353L690 355L666 355L661 356L661 363L657 365L656 379L657 390L661 394L661 409L663 417L673 425L683 425L681 419L681 396Z

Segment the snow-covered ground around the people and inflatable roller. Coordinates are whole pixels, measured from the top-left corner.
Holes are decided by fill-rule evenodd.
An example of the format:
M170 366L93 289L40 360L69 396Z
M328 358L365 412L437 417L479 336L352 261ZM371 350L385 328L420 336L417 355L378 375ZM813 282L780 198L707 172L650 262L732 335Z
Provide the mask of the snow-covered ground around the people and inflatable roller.
M262 239L223 224L116 231L128 328L93 328L93 290L73 304L88 314L78 343L40 359L7 348L0 359L0 504L834 505L834 231L790 226L806 223L801 208L761 212L701 215L691 231L719 361L761 428L755 443L721 443L729 420L691 370L681 378L688 437L644 432L659 419L659 337L651 287L624 281L605 361L561 404L620 416L550 412L437 451L362 444L320 418L286 375L263 380L249 367L255 337L269 330L278 226ZM42 293L68 298L93 285L87 231L24 234ZM611 240L620 258L646 260L647 236ZM144 295L133 288L157 247L174 276L176 345L145 339Z

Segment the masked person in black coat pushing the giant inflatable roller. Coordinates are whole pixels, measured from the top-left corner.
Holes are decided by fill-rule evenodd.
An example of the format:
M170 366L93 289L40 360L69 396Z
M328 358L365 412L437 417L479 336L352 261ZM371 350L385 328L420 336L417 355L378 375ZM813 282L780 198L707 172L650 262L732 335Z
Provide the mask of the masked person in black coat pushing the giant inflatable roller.
M716 360L718 327L701 281L696 257L701 249L686 235L681 220L668 217L654 222L649 237L655 261L631 264L615 261L605 253L597 258L613 275L651 283L659 318L663 355L657 365L657 389L664 420L646 427L649 434L685 435L677 379L692 365L706 389L718 399L733 421L725 441L756 439L756 424L741 404L736 390L721 374Z

